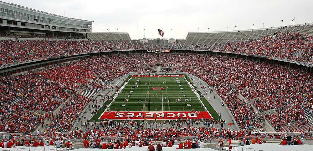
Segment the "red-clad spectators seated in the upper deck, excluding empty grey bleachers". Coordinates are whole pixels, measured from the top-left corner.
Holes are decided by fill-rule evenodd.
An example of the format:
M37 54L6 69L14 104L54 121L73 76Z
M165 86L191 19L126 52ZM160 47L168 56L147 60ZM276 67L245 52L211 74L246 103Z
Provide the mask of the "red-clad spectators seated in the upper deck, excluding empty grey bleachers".
M6 36L1 33L0 36ZM84 35L81 34L80 37ZM136 43L135 43L136 42ZM184 46L181 43L164 45L159 43L160 49L199 49L246 53L262 55L270 58L281 58L305 63L313 63L313 41L312 36L299 33L276 32L273 35L261 39L228 42L214 44L212 47L206 44L191 43ZM1 40L0 41L0 65L37 60L54 56L110 51L110 50L133 50L133 49L156 49L156 41L151 43L138 43L137 41L109 40L109 41L25 41L25 40ZM164 45L164 46L163 46Z

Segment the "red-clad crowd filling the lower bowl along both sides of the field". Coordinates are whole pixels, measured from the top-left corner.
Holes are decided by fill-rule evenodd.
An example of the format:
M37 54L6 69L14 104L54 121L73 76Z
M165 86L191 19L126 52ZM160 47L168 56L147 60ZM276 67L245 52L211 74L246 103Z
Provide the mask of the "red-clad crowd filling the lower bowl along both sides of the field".
M79 89L77 83L93 85L95 74L110 81L128 72L141 73L145 67L153 67L157 62L156 58L155 54L100 56L81 59L38 73L27 73L12 78L3 77L0 85L3 98L1 121L5 124L0 128L6 132L23 132L26 127L17 128L15 125L25 125L26 122L22 118L25 121L46 118L43 114L35 115L37 113L35 111L43 110L48 113L53 111L69 98L66 89L77 92ZM209 83L222 97L241 129L263 130L262 121L265 119L279 131L305 131L310 127L310 123L304 120L303 110L311 110L312 104L304 102L303 94L307 93L307 98L312 99L312 75L303 72L301 68L287 70L280 64L270 65L254 60L211 55L170 53L161 54L159 59L162 66L170 66L171 71L185 71ZM86 80L87 78L91 80ZM245 91L241 91L244 89ZM239 94L249 102L240 100ZM250 101L256 97L260 99ZM11 104L18 99L20 99L18 102ZM71 100L78 101L76 99L85 100L80 102L82 103L80 107L85 107L85 103L89 102L87 98L72 95ZM74 108L74 104L65 105L65 109ZM253 110L252 105L258 112ZM263 114L263 111L269 109L274 109L277 113ZM72 118L69 119L59 118L64 116L62 109L58 115L49 116L53 121L49 129L68 130L81 112L80 109L70 111L67 116ZM16 116L18 118L13 119ZM33 127L38 124L34 123ZM27 125L30 131L33 129L29 128L31 125Z

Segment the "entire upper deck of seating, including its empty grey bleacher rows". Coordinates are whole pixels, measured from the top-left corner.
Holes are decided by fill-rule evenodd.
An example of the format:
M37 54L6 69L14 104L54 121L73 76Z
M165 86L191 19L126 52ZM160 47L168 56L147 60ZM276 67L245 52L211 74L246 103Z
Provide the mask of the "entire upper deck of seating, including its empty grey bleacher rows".
M160 49L210 50L261 55L312 64L313 25L237 32L188 33L185 40L168 43L160 39ZM110 50L156 49L157 39L141 43L128 33L89 33L91 41L7 41L0 45L1 65L60 55Z

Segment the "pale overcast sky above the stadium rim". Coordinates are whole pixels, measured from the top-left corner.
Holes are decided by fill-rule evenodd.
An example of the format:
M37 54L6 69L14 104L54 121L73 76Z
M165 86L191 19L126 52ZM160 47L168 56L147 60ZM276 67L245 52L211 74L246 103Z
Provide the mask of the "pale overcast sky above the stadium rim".
M313 0L3 0L40 11L91 20L93 32L128 32L132 39L186 38L188 32L312 23Z

